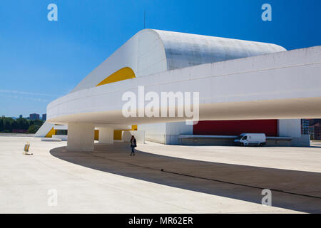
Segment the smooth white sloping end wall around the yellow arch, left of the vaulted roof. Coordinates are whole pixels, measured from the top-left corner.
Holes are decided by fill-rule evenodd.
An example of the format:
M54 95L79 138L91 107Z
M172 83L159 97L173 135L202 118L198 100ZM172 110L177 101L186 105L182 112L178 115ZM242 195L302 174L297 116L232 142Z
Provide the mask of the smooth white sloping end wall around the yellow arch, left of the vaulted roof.
M136 77L140 77L166 71L166 64L165 49L161 37L152 29L144 29L136 33L86 78L83 78L71 93L94 87L124 67L130 67Z

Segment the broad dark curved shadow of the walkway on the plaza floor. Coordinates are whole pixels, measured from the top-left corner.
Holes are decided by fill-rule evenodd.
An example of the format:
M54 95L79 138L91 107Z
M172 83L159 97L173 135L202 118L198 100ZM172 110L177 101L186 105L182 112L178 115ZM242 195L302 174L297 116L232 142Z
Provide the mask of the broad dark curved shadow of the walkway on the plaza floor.
M136 147L139 149L138 147ZM321 213L321 173L187 160L136 150L128 143L95 145L95 152L57 147L51 155L77 165L160 185L261 204L272 191L272 206ZM153 192L151 192L153 194Z

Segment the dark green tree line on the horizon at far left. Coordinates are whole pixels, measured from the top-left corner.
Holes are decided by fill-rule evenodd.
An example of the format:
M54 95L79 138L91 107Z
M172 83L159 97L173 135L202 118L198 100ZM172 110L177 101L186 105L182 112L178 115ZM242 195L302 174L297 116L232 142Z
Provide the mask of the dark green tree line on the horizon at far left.
M0 133L13 133L13 130L26 130L26 133L36 133L44 123L43 120L28 120L19 118L14 120L11 117L0 118Z

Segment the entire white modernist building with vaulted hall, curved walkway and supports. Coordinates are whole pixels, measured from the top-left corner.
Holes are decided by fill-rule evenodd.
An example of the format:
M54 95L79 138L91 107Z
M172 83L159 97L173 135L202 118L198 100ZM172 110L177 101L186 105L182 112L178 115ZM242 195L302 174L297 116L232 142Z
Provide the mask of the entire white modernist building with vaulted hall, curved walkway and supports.
M114 130L147 140L193 135L186 118L125 117L123 94L199 92L200 120L278 120L278 135L301 140L300 118L321 116L321 47L286 51L270 43L144 29L51 102L47 121L68 125L68 150L113 142ZM168 107L161 107L168 108ZM138 107L139 110L139 107Z

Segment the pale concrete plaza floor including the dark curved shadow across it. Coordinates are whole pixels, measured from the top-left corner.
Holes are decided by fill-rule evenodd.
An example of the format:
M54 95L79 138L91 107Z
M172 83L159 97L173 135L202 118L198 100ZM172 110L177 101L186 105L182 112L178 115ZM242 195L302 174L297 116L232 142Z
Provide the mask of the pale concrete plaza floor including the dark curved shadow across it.
M34 155L23 155L28 140ZM95 152L65 146L0 136L0 213L321 212L320 145L147 142L135 157L124 142L96 145ZM272 190L272 207L261 204L265 188Z

